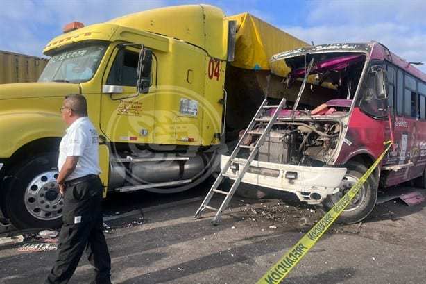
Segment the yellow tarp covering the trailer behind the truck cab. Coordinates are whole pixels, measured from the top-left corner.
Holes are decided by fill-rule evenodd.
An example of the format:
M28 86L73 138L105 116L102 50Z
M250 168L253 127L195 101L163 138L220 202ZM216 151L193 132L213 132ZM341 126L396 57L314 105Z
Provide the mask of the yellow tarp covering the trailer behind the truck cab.
M237 22L235 60L231 65L244 69L269 70L269 59L276 53L307 47L309 44L289 35L247 12L227 17ZM287 74L284 62L278 74Z

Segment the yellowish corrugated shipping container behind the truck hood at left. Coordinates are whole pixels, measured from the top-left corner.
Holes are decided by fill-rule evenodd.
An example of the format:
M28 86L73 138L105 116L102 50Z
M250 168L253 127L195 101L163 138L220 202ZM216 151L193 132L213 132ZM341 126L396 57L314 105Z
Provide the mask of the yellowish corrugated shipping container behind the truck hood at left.
M49 59L0 50L0 84L37 81Z

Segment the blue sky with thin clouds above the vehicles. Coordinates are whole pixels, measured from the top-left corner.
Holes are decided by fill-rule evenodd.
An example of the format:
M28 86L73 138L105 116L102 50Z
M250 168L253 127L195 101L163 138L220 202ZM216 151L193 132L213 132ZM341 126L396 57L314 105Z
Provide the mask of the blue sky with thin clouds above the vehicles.
M131 12L207 3L226 15L263 19L305 42L376 40L409 62L426 64L424 0L0 0L0 50L45 57L42 49L73 21L86 26ZM418 65L426 72L426 65Z

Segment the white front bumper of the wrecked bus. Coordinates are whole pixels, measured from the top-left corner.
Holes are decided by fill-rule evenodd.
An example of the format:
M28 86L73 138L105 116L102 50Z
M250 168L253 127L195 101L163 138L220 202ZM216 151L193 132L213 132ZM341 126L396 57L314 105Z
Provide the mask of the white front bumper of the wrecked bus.
M229 158L229 156L221 156L221 169ZM230 169L224 175L235 180L239 170L246 165L246 162L246 159L235 158ZM327 195L339 191L339 185L345 174L346 168L344 167L308 167L253 161L241 181L292 192L300 201L319 204Z

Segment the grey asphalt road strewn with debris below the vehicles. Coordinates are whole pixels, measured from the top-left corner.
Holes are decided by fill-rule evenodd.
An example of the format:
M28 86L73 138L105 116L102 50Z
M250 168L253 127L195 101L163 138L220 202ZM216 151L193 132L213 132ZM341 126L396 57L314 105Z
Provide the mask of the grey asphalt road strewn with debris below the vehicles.
M213 226L212 212L194 219L203 194L153 195L105 204L113 283L256 283L321 218L305 206L234 197ZM391 199L362 223L333 224L282 283L425 283L425 233L425 203ZM43 282L56 251L55 242L41 240L0 245L0 283ZM37 245L46 250L34 251ZM91 276L83 258L70 283L90 283Z

